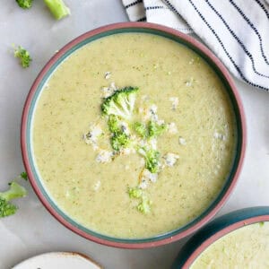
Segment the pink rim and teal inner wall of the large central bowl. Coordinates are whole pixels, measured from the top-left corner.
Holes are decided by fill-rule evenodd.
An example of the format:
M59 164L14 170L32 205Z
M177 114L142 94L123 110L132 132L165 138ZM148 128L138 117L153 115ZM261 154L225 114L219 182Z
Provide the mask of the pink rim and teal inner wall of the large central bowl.
M38 171L35 167L33 156L31 154L30 143L30 131L31 131L31 119L33 117L33 110L38 100L39 93L42 90L48 77L56 69L56 67L65 60L67 56L72 54L76 49L81 48L89 42L106 37L112 34L118 33L130 33L130 32L143 32L159 35L168 39L173 39L180 44L187 46L195 51L199 56L211 65L216 74L223 82L226 91L229 94L234 113L236 115L236 122L238 128L238 144L233 161L230 175L226 179L226 183L221 190L220 195L213 201L208 209L202 213L194 221L187 223L186 226L180 227L177 230L169 231L165 234L158 235L152 238L146 239L116 239L106 235L102 235L98 232L86 229L79 223L72 220L69 216L63 213L53 202L53 200L47 194L45 188L42 186L39 179ZM239 178L239 171L242 167L245 151L246 151L246 120L242 106L242 102L239 98L239 93L232 81L229 72L221 64L221 61L213 55L213 53L206 48L203 44L197 40L187 36L178 30L172 30L168 27L164 27L158 24L148 22L120 22L115 24L109 24L107 26L100 27L96 30L91 30L72 40L64 48L61 48L55 56L53 56L48 64L41 70L35 82L33 82L29 95L25 101L25 105L22 112L22 126L21 126L21 147L22 147L22 159L26 169L26 172L30 178L30 184L39 197L39 200L48 209L57 221L60 221L69 230L73 230L75 233L81 235L86 239L104 244L110 247L123 247L123 248L145 248L145 247L157 247L164 244L168 244L178 239L182 239L187 235L193 233L195 230L200 229L207 221L210 221L213 216L221 209L221 206L227 201L230 192L235 187L235 184Z

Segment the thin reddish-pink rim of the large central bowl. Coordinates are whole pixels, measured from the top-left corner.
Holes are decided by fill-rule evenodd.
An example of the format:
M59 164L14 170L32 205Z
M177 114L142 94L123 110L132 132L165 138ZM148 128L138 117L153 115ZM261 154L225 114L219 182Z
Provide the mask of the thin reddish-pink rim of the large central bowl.
M39 83L41 82L42 78L45 74L47 74L49 68L54 65L61 56L64 56L65 53L71 49L74 48L74 46L80 42L82 42L84 39L89 39L92 36L98 35L100 33L104 33L106 31L110 30L120 30L120 29L132 29L132 28L141 28L141 29L147 29L147 30L160 30L162 32L165 32L171 36L176 36L179 39L183 39L185 42L191 44L193 47L198 48L205 56L207 56L211 61L219 68L221 71L221 74L225 78L226 82L230 85L230 89L234 95L234 99L236 100L236 103L239 108L239 119L241 123L242 128L242 141L241 141L241 152L239 156L239 163L236 168L236 172L234 174L234 177L232 178L230 182L230 186L227 188L227 191L224 195L222 195L221 200L213 207L213 210L209 213L207 213L203 219L200 221L197 221L193 226L188 228L187 230L183 230L182 232L178 233L177 235L165 239L160 239L152 242L143 242L143 243L122 243L122 242L116 242L111 241L108 239L100 239L98 237L92 236L89 233L86 233L83 230L78 229L68 221L66 221L59 213L56 213L56 211L53 209L51 204L48 203L48 200L45 198L45 196L41 193L39 190L39 187L37 185L37 182L33 176L33 173L30 169L30 159L27 152L27 145L26 145L26 133L27 133L27 118L29 116L29 110L30 110L30 103L34 96L35 91L37 90ZM205 223L210 221L213 216L219 212L223 204L227 201L227 199L230 196L230 193L232 189L235 187L238 178L239 178L239 172L242 169L243 165L243 159L246 152L246 142L247 141L247 133L246 133L246 118L245 113L243 109L242 102L239 97L239 92L236 89L236 86L226 69L226 67L221 63L221 61L213 55L213 52L211 52L208 48L206 48L203 44L195 40L194 38L187 36L186 34L178 31L173 30L165 26L161 26L159 24L149 23L149 22L119 22L114 24L108 24L106 26L102 26L100 28L97 28L95 30L90 30L81 36L77 37L76 39L73 39L69 43L65 45L65 47L61 48L54 56L51 57L51 59L48 61L48 63L43 67L43 69L40 71L39 75L37 76L36 80L33 82L30 92L27 96L27 99L25 101L25 105L22 112L22 126L21 126L21 148L22 148L22 160L24 163L24 167L26 169L26 172L28 174L28 177L30 179L30 184L32 188L34 189L36 195L38 195L40 202L47 208L48 212L53 215L57 221L60 221L67 229L74 231L75 233L79 234L85 239L90 239L91 241L100 243L102 245L106 245L109 247L121 247L121 248L147 248L147 247L158 247L161 245L169 244L171 242L174 242L178 239L183 239L187 237L188 235L195 232L195 230L200 229L202 226L204 226Z

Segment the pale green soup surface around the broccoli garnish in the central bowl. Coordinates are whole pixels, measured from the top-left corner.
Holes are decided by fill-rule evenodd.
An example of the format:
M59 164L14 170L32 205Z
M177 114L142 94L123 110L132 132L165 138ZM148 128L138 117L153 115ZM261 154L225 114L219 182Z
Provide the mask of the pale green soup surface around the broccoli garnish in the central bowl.
M120 131L136 142L115 154L100 106L127 86L139 90ZM32 141L42 184L66 215L108 236L148 238L186 225L213 203L233 162L237 129L223 88L173 40L126 33L92 41L57 67L39 96ZM152 138L134 131L150 121L160 134L154 126L156 135L145 135Z

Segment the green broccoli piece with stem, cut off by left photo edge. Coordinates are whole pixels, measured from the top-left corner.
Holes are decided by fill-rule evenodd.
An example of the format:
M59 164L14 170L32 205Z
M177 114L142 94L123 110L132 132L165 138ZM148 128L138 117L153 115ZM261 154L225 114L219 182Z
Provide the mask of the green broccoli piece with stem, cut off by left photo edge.
M9 190L5 191L4 193L0 193L0 218L4 218L16 213L18 209L17 206L9 203L9 201L15 198L24 197L26 195L26 189L13 181L10 184Z

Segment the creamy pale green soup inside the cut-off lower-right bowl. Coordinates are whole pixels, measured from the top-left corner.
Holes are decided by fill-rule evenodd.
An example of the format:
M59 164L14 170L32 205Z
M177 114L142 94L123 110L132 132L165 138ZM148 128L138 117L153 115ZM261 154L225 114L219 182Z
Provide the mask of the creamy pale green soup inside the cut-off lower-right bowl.
M197 258L192 269L269 268L269 222L260 222L234 230Z

